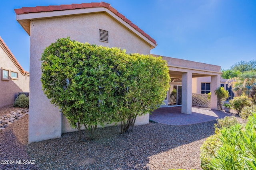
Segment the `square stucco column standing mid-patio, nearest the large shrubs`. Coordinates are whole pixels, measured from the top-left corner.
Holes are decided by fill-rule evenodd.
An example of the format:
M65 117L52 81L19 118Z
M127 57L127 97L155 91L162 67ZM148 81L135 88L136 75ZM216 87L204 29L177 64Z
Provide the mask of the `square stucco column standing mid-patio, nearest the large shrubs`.
M181 113L192 113L192 72L182 73Z

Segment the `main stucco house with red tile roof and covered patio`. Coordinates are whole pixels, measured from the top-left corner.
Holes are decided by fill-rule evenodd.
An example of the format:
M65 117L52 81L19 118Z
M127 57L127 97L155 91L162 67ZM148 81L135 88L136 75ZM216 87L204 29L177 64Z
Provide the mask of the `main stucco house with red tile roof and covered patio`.
M70 128L59 109L50 104L40 82L41 54L56 39L70 37L82 43L120 47L127 53L145 55L156 47L152 37L105 2L27 7L15 9L15 12L16 20L30 35L30 143L58 138L62 133L75 130ZM182 113L191 113L192 78L210 76L211 88L220 86L220 66L170 57L163 59L168 63L172 78L170 85L179 86L182 90ZM162 107L168 107L169 94L170 90ZM216 96L212 94L212 109L217 109L216 101ZM149 115L136 119L136 125L147 123Z

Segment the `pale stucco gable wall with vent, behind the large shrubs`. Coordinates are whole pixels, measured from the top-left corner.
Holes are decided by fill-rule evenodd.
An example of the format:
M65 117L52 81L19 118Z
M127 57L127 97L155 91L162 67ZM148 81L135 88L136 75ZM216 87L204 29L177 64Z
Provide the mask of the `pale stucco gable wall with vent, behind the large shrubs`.
M99 41L99 29L109 33L108 43ZM29 142L58 138L70 129L58 108L50 104L42 91L41 54L56 39L70 37L82 43L120 47L127 53L150 54L150 46L104 13L84 14L30 22L30 116ZM137 119L136 124L149 123ZM140 122L141 121L141 122ZM63 129L62 129L63 127Z

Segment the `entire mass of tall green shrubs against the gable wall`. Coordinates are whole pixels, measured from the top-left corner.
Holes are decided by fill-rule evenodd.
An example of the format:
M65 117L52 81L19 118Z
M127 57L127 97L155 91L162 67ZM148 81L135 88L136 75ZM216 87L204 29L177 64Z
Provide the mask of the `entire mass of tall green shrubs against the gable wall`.
M58 39L42 54L42 87L71 126L86 128L121 121L126 132L136 116L157 108L166 97L170 77L166 61L149 55Z

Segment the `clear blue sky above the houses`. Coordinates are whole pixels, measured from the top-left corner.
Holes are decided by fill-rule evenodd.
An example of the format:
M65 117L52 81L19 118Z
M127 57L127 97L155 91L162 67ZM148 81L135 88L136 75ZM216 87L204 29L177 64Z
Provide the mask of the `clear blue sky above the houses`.
M6 0L0 36L29 71L30 37L14 9L89 0ZM220 65L256 60L256 0L104 0L157 42L152 54Z

